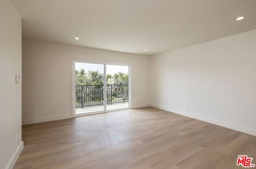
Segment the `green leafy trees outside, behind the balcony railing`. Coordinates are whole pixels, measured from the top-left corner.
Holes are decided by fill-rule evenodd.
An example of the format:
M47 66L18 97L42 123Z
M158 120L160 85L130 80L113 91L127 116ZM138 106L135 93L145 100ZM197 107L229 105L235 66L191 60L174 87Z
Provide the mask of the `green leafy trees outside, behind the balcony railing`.
M76 107L100 105L104 100L104 74L84 69L76 70ZM107 74L106 99L107 103L128 101L129 75L122 72ZM120 99L121 98L121 99Z

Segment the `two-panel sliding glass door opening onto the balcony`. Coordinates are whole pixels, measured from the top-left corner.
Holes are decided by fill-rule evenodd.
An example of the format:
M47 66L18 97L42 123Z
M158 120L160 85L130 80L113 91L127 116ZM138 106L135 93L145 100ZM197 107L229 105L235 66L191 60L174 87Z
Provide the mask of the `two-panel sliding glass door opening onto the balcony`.
M129 66L72 61L74 116L129 108Z

